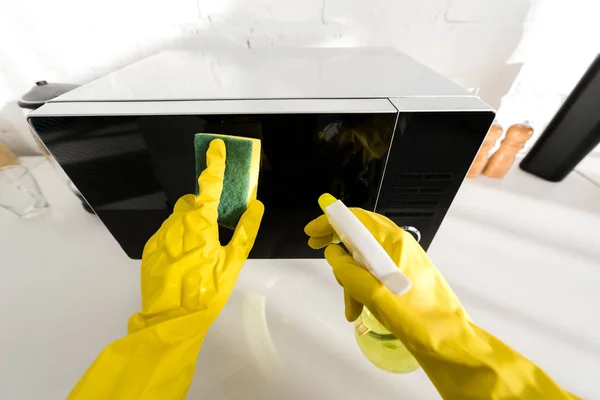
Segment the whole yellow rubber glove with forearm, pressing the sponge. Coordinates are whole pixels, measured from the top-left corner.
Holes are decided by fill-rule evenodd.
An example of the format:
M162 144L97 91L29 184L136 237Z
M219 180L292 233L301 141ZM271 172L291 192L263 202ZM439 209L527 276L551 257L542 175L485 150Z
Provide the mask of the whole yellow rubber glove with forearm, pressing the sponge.
M209 326L231 295L254 244L264 207L251 202L227 246L217 209L225 144L214 140L200 195L185 195L148 240L142 255L142 311L129 334L109 345L77 383L71 399L182 399Z

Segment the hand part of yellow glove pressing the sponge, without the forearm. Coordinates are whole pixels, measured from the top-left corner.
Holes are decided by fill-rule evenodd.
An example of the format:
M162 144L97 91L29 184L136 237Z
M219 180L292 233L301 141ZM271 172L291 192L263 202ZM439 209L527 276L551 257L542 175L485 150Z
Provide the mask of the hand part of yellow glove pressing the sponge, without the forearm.
M211 142L206 163L198 179L200 194L181 197L144 247L142 311L131 317L130 333L195 312L203 314L208 327L231 295L252 249L263 204L253 200L229 244L221 246L217 217L225 172L222 140Z

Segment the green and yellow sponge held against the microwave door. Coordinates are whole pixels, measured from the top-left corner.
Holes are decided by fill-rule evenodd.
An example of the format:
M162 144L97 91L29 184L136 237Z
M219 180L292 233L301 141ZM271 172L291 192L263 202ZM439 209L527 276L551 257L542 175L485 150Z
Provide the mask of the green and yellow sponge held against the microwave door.
M206 168L206 151L210 142L225 142L225 177L219 202L219 225L235 229L246 211L248 203L256 199L258 169L260 164L260 140L239 136L198 133L194 136L196 154L196 181ZM196 194L199 188L196 186Z

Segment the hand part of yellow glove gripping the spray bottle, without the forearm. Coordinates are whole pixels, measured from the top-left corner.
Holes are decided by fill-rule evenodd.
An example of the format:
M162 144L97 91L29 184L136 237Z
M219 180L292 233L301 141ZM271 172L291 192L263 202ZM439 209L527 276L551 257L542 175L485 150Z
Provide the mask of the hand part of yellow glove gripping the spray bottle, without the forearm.
M352 208L351 211L383 246L400 270L410 278L412 289L402 296L393 295L342 247L332 245L333 230L327 217L322 215L310 222L305 232L309 236L310 247L319 249L328 246L325 258L332 266L338 282L344 287L348 321L358 318L363 305L394 333L405 327L405 322L409 319L415 324L411 330L426 330L422 324L430 320L430 313L456 314L457 317L468 319L452 289L410 233L383 215L360 208ZM403 321L398 320L399 316ZM426 331L422 334L426 334Z

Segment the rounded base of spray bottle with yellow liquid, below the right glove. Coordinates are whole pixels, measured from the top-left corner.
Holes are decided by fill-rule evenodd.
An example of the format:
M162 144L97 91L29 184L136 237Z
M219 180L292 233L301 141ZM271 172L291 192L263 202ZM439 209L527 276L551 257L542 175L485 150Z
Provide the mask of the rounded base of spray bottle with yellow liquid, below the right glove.
M419 363L402 342L363 308L354 322L358 347L373 365L395 374L408 374L419 369Z

